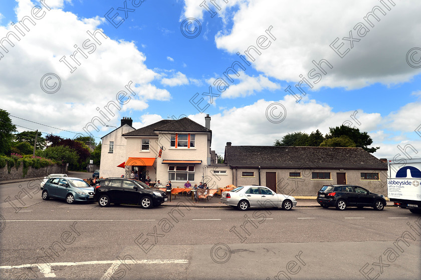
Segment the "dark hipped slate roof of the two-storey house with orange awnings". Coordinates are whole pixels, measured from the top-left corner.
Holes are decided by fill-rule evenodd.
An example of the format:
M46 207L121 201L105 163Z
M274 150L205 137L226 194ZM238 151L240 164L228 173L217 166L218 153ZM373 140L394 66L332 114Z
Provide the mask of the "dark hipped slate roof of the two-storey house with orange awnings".
M189 118L182 118L179 120L161 120L151 125L130 131L123 134L123 136L147 136L156 137L158 131L169 132L211 132L202 125L190 120Z

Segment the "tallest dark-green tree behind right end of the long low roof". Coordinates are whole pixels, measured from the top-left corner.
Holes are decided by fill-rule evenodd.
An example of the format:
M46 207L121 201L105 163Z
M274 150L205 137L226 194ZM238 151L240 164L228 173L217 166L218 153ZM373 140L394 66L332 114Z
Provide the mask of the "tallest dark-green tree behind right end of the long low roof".
M368 148L368 146L373 143L373 140L367 132L360 132L358 128L341 125L334 128L330 127L329 130L330 133L326 135L326 139L345 135L348 136L353 142L355 142L356 147L363 148L369 153L374 153L376 150L380 149L380 147Z

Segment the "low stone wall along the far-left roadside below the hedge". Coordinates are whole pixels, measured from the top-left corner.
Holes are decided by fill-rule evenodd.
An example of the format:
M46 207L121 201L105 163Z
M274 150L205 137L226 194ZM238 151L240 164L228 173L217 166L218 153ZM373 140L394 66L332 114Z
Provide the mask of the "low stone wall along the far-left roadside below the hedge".
M52 173L66 173L66 165L49 165L47 167L41 167L41 168L33 168L28 167L28 172L26 176L23 174L24 165L21 163L18 169L16 169L16 166L13 166L10 170L10 173L8 172L7 165L3 168L0 168L0 181L3 180L13 180L13 179L21 179L21 178L33 178L33 177L42 177L47 176Z

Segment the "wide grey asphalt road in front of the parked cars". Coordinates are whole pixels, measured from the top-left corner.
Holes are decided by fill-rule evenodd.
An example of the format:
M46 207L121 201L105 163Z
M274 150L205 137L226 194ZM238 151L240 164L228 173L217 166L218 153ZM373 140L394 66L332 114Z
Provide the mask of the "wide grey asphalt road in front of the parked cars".
M421 216L403 209L101 208L43 201L36 184L0 185L1 279L421 275Z

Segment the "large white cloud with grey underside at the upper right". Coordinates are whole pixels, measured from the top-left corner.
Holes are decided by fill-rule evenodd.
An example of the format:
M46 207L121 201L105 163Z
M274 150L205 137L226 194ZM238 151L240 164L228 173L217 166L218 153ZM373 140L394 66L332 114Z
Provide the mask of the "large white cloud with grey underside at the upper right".
M234 21L232 29L219 32L216 44L230 53L244 54L249 46L257 45L259 36L266 36L271 45L260 49L260 56L251 51L256 59L254 67L268 77L285 81L298 82L300 74L311 80L308 72L317 70L312 61L325 59L333 69L324 66L327 75L321 75L322 79L315 89L322 86L354 89L374 83L393 85L406 82L420 73L419 69L407 65L405 55L410 48L419 45L415 30L421 29L421 22L416 20L421 2L394 2L394 7L390 2L383 3L389 5L390 11L380 2L365 0L352 3L328 0L243 1L239 10L231 16ZM370 27L363 18L375 6L382 8L386 15L377 11L379 22L370 17L374 25ZM198 13L193 9L192 1L186 1L186 11ZM364 37L359 37L353 30L360 22L370 29ZM276 40L265 33L270 26ZM349 41L342 40L349 37L350 30L353 38L360 40L353 42L352 49ZM335 46L344 43L341 52L350 49L342 59L329 47L336 38L339 41ZM316 80L313 78L311 81Z

